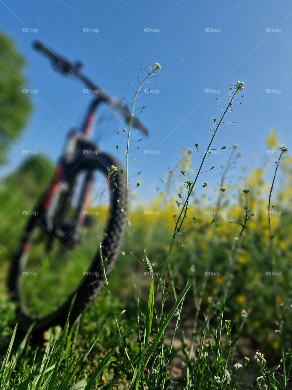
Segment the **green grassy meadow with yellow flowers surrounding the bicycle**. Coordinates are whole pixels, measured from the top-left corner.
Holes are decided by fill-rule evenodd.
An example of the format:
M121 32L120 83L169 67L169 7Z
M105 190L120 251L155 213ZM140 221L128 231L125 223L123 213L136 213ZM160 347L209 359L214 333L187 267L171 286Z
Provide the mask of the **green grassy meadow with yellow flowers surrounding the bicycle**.
M41 345L29 334L16 336L6 280L27 218L23 209L33 209L53 166L38 156L6 177L0 192L0 389L289 388L292 158L274 131L266 145L268 162L240 173L240 149L227 145L220 151L225 163L216 167L218 185L197 190L192 161L198 145L185 147L153 200L132 205L122 253L100 296L70 327L68 317L65 330L48 330ZM18 199L11 196L16 188ZM99 213L75 253L83 266L98 248L107 212L103 203L91 210ZM43 265L39 279L49 296L80 280L76 262L52 264ZM36 280L28 280L25 299L42 315L53 298L40 299Z

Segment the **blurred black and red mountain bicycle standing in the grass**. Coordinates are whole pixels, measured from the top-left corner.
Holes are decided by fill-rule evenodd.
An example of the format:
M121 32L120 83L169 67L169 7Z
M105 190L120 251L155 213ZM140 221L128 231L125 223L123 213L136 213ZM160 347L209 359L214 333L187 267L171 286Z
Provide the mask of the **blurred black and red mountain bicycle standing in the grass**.
M145 135L148 135L148 130L130 113L126 105L122 105L121 99L107 96L99 86L81 73L80 62L71 63L41 41L35 41L33 46L51 60L53 69L63 75L77 78L89 92L95 94L81 131L69 132L53 181L37 202L35 210L30 213L21 244L12 259L8 284L12 299L18 304L18 329L21 333L26 333L32 328L33 337L40 338L49 327L65 325L69 308L70 322L73 323L93 302L107 281L106 277L113 269L125 238L126 175L120 161L108 153L101 152L90 140L97 108L101 104L106 105L120 112L128 124L130 122ZM96 206L92 212L87 210L90 196L96 186L97 172L103 175L109 186L109 217L106 226L101 218L95 218L99 215ZM88 219L89 213L91 220ZM100 235L96 250L98 240L95 233L100 228L104 229L104 232ZM85 232L89 237L88 242L84 238ZM82 262L84 270L87 257L90 258L88 252L93 248L89 239L95 245L94 254L80 278L81 270L72 271L68 257L75 257L79 263ZM77 280L79 285L71 291ZM43 290L37 284L43 287ZM65 292L60 289L63 285L66 285ZM56 292L56 297L53 292ZM45 296L49 298L46 305ZM34 300L35 307L32 305ZM40 312L44 314L40 315Z

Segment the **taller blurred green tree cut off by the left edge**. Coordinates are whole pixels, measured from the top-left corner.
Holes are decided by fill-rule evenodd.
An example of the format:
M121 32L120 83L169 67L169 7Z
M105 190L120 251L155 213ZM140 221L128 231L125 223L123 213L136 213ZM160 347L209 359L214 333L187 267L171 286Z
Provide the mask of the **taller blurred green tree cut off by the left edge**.
M7 157L9 146L17 141L32 111L25 88L24 57L15 43L0 32L0 163Z

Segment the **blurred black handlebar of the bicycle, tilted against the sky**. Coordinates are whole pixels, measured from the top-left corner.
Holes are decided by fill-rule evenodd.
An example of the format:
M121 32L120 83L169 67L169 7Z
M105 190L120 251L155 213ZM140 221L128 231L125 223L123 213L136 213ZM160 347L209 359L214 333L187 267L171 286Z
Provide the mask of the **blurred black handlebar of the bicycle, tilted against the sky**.
M62 55L58 55L53 50L48 48L41 41L34 41L33 48L51 59L51 61L53 62L53 69L59 70L63 74L68 74L69 76L76 77L88 89L90 89L92 93L95 93L97 95L97 99L100 102L103 102L109 107L118 110L123 116L123 119L128 124L131 124L131 126L140 130L143 134L148 135L148 129L146 129L146 127L142 125L139 119L137 119L129 111L127 105L121 104L121 99L108 96L99 86L95 85L95 83L93 83L87 76L80 72L82 65L80 62L73 64Z

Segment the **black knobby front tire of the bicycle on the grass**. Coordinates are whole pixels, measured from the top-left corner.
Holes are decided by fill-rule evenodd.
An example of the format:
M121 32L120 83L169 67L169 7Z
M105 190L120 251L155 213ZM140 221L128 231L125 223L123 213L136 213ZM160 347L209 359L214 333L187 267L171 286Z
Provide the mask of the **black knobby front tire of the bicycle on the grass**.
M95 300L103 287L102 282L104 282L105 278L103 272L99 272L98 276L93 276L92 274L96 274L96 270L99 269L101 265L101 255L102 259L105 261L104 266L106 275L108 276L110 274L116 260L118 259L118 255L120 254L120 247L127 229L127 188L124 184L125 171L123 170L120 161L107 153L99 153L94 158L84 159L84 157L79 157L79 160L80 162L74 161L68 164L66 166L67 171L71 172L72 167L76 167L77 165L77 167L73 169L74 175L77 175L78 172L83 169L93 169L104 172L104 174L108 176L108 168L111 169L112 165L118 168L118 170L111 174L108 179L110 187L110 216L105 229L106 235L104 235L104 239L102 241L102 253L100 254L100 249L98 248L93 260L91 261L90 268L88 269L88 275L84 276L82 283L76 291L72 293L54 312L46 317L36 320L32 318L21 305L19 280L23 271L22 265L26 252L29 251L26 245L21 245L18 250L18 254L12 259L9 273L9 290L12 298L14 296L14 299L18 301L18 332L26 333L28 329L33 326L31 333L33 339L36 340L42 339L44 331L52 326L60 325L63 328L65 326L70 307L70 324L72 324L79 314L81 314L84 309ZM38 214L32 216L32 218L28 221L22 243L29 242L31 235L33 234L33 230L37 227L38 220L42 215L43 204L44 199L37 207Z

